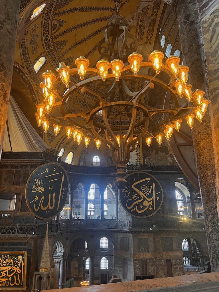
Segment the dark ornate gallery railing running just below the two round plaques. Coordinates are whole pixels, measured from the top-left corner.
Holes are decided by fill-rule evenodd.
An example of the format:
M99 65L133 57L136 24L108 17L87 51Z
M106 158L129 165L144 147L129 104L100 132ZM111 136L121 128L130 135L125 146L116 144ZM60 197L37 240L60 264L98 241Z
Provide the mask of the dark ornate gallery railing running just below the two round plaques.
M64 221L64 220L63 220ZM0 225L0 235L30 235L45 234L46 224L14 224ZM177 230L203 230L204 222L198 221L119 221L108 220L65 220L65 222L50 223L49 233L74 232L75 230L108 229L121 231L177 231Z

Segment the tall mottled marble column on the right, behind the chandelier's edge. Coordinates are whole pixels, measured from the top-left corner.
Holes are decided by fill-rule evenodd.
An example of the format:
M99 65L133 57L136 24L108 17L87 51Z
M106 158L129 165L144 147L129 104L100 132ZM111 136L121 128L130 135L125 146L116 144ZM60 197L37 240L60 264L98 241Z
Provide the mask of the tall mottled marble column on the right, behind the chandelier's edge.
M183 64L190 67L188 84L193 89L205 91L205 98L211 101L208 79L214 76L214 68L206 67L205 43L203 39L199 8L196 0L172 0L172 7L177 15ZM208 39L211 39L211 35ZM217 43L215 43L217 42ZM218 45L215 37L211 50ZM217 52L217 51L215 51ZM183 58L182 58L183 57ZM216 82L216 79L214 79ZM218 96L217 96L218 98ZM217 102L218 103L218 102ZM218 107L218 105L217 105ZM213 124L212 106L209 105L202 123L196 119L192 129L200 192L204 209L204 222L208 240L208 250L212 272L219 271L219 214L218 214L218 168L217 136Z

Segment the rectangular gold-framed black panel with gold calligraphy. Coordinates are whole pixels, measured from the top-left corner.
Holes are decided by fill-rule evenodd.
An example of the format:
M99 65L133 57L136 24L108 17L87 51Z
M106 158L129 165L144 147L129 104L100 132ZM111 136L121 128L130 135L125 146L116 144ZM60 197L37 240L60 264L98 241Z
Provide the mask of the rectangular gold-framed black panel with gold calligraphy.
M26 290L27 252L0 252L0 290Z

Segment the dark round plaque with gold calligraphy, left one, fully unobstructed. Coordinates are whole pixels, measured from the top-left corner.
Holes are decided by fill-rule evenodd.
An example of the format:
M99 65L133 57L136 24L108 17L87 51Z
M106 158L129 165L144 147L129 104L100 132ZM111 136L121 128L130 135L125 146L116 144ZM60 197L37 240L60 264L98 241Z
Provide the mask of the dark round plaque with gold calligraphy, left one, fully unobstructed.
M58 215L68 198L68 176L56 163L46 163L34 170L27 181L25 199L32 214L40 219Z

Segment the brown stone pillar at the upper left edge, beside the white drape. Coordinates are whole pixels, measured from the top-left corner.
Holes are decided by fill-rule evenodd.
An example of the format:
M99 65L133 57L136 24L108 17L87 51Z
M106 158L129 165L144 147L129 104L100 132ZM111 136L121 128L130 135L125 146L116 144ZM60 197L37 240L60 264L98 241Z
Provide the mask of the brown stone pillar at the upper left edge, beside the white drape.
M21 0L0 1L0 159L11 92L20 2Z

